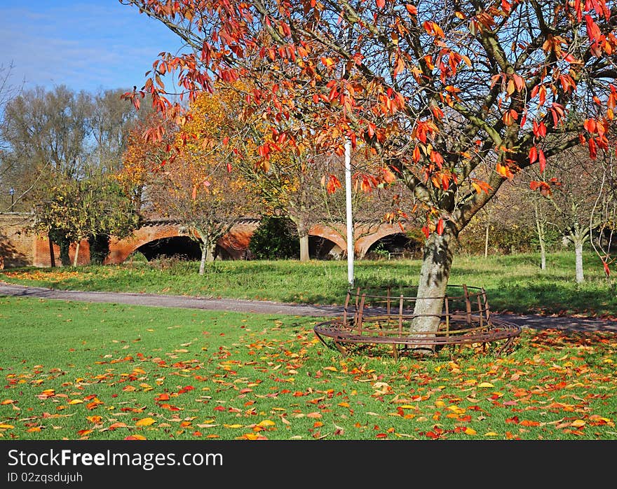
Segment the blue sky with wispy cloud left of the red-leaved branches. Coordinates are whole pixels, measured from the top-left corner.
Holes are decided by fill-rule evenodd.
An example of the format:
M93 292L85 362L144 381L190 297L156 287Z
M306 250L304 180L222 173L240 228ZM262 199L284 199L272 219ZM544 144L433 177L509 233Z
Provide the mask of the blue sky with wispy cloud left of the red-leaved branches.
M0 0L0 46L13 85L93 92L141 88L158 53L181 44L118 0Z

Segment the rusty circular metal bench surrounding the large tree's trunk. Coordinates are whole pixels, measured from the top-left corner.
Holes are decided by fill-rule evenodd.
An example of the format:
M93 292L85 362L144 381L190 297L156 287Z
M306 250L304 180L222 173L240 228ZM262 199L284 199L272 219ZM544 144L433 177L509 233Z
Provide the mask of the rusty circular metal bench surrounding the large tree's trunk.
M347 292L343 316L317 324L313 331L321 342L347 354L349 345L372 343L391 345L395 359L401 348L435 350L447 345L478 343L484 351L488 343L497 344L497 354L511 350L514 338L522 329L517 324L491 317L487 294L479 287L449 285L443 297L440 324L437 331L411 331L416 317L414 305L418 300L416 287L393 294L386 289L360 287ZM503 342L502 342L503 340Z

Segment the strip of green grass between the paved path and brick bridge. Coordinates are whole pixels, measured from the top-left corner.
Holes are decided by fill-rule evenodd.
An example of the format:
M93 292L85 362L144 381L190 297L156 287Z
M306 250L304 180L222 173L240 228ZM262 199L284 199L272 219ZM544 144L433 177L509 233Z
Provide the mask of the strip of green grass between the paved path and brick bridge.
M545 314L617 315L617 296L604 278L597 256L584 257L585 282L574 280L574 254L548 255L540 270L538 256L456 256L451 284L484 287L494 311ZM359 286L417 284L420 261L356 261ZM118 266L5 270L0 280L54 289L131 291L204 297L265 299L288 303L332 304L344 301L346 261L217 261L205 275L198 263L154 261Z

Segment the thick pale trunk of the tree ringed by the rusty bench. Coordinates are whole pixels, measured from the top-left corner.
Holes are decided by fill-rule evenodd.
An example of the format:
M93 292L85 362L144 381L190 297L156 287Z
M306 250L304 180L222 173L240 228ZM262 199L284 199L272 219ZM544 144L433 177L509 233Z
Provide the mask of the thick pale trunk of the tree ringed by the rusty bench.
M445 230L440 236L433 233L424 242L424 254L418 284L418 300L414 307L411 331L437 331L442 317L443 297L452 268L452 240L454 235ZM432 348L416 347L432 351Z

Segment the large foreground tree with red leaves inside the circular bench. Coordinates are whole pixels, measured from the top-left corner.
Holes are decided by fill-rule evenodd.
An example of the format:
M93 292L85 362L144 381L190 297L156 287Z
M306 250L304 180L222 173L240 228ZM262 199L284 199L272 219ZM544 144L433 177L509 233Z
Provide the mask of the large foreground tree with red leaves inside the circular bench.
M163 54L129 97L147 92L175 118L182 106L161 73L177 71L190 98L217 79L251 78L255 112L289 121L280 139L309 127L339 154L345 138L369 144L422 202L421 297L445 295L456 236L504 181L577 144L592 158L608 146L617 37L605 0L121 2L188 49ZM583 118L568 117L574 106ZM264 143L264 158L277 144ZM435 331L441 310L416 301L412 330Z

